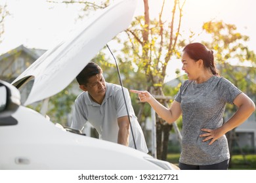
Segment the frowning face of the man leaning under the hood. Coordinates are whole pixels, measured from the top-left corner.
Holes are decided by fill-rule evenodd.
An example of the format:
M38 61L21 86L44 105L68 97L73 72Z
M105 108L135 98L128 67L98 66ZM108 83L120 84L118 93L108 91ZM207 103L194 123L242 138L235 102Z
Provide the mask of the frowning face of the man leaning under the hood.
M106 93L106 82L103 75L91 76L87 84L83 85L81 89L88 92L93 99L103 98Z

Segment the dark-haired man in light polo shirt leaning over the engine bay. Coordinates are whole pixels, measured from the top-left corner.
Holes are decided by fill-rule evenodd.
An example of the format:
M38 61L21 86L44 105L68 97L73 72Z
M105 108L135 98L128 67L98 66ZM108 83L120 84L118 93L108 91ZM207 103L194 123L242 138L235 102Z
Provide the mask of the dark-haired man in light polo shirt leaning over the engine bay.
M105 82L102 69L93 62L88 63L76 79L79 88L84 92L75 99L71 127L81 130L85 123L89 122L98 132L99 139L117 142L132 148L135 148L136 144L137 150L148 153L146 141L131 105L128 90L123 88L124 100L121 86ZM133 135L130 133L125 101L130 115L135 144Z

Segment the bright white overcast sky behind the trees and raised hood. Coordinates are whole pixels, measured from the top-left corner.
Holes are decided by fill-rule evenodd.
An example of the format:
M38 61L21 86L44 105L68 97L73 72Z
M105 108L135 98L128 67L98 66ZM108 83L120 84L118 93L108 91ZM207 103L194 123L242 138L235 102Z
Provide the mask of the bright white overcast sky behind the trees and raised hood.
M56 0L60 1L60 0ZM118 0L116 0L118 1ZM163 18L169 18L173 0L165 0ZM0 44L0 54L24 44L28 48L49 49L61 42L74 31L79 20L77 15L81 5L47 3L47 0L0 0L7 3L11 14L5 21L5 34ZM161 0L149 0L150 16L158 16ZM248 46L256 52L256 1L254 0L186 0L183 8L181 33L188 35L193 31L202 32L203 22L223 20L226 24L236 25L238 32L249 36ZM143 14L143 1L139 0L135 15ZM204 37L196 36L194 41ZM181 69L181 61L169 64L167 80L175 77L175 69Z

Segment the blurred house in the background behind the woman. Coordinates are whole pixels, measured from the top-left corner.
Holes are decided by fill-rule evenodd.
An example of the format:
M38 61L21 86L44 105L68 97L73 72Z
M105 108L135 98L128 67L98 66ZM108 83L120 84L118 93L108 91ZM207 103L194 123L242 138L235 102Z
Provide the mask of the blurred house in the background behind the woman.
M242 73L247 73L248 67L244 66L234 66L229 65L229 67L232 67L232 71L238 71ZM220 71L221 69L219 69ZM250 78L249 75L245 77L246 82L251 83L253 85L256 84L255 78ZM167 86L171 87L177 87L178 84L184 82L184 76L180 76L179 78L175 78L173 80L170 80L165 83ZM254 101L256 101L255 93L251 91L247 91L246 94ZM233 114L233 112L226 112L226 118L224 118L224 121L230 118ZM233 135L233 140L235 140L236 144L235 146L238 146L239 148L248 148L253 149L254 152L256 152L256 112L253 112L251 116L242 124L236 127L234 130L235 134Z

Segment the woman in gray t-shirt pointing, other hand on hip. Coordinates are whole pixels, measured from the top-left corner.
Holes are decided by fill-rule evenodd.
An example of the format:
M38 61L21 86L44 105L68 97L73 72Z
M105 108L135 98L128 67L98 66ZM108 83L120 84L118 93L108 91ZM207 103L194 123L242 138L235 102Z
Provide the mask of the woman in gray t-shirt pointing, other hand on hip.
M188 75L170 108L161 105L147 91L138 93L169 124L182 114L180 169L228 169L230 154L225 133L242 124L255 110L255 104L226 78L220 77L213 51L195 42L185 46L182 70ZM226 103L238 107L225 123Z

